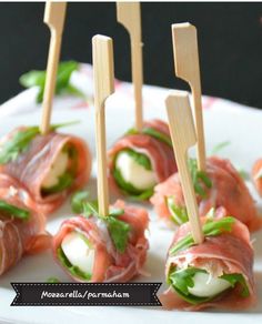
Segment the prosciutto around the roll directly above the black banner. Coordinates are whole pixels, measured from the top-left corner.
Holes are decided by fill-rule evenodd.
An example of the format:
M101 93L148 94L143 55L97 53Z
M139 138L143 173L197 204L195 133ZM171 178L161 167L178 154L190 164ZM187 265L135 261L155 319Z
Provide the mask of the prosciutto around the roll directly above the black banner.
M144 235L149 224L148 213L142 209L125 206L122 201L117 201L113 206L124 209L124 214L118 216L118 219L131 226L124 253L115 250L104 221L95 216L84 217L80 215L64 221L53 237L53 254L60 265L62 264L58 259L58 249L67 234L77 231L83 234L94 249L91 282L128 282L142 273L149 249ZM83 280L72 276L68 269L63 267L63 270L74 281L83 282Z

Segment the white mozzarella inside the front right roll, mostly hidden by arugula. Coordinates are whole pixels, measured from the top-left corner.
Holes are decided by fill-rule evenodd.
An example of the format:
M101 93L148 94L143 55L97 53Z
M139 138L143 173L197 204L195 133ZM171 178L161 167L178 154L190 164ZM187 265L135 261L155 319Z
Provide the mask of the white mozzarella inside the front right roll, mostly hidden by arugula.
M194 286L189 287L189 292L198 297L212 297L231 287L228 281L202 272L195 273L193 282Z

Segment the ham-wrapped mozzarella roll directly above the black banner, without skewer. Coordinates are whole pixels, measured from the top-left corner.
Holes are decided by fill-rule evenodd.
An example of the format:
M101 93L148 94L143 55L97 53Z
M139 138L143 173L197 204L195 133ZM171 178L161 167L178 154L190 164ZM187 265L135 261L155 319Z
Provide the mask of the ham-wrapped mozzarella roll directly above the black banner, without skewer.
M149 243L148 213L118 201L104 219L95 209L66 220L53 237L53 254L78 282L128 282L142 273Z

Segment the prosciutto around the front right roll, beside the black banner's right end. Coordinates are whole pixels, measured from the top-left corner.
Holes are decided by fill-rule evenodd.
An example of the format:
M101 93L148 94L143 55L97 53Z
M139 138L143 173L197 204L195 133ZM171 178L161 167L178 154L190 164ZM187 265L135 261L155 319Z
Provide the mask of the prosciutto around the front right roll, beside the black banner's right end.
M225 210L218 211L216 220L226 214ZM205 220L202 219L202 223ZM190 225L185 223L177 231L171 246L190 233ZM253 249L250 242L248 227L235 219L231 232L224 232L218 236L208 236L199 245L178 252L177 255L168 255L165 274L171 266L190 265L208 271L213 276L223 273L243 275L249 287L249 296L241 296L241 287L236 284L215 298L202 304L192 305L182 300L170 286L160 297L165 308L200 311L208 307L243 310L255 304L255 288L253 277Z

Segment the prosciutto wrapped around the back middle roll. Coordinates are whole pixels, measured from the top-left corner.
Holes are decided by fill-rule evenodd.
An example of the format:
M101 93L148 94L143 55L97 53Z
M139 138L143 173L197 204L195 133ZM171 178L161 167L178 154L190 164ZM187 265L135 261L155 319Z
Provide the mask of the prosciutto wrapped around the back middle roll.
M170 138L169 126L161 120L148 121L144 123L144 128L154 129ZM139 153L145 154L150 159L152 168L155 171L158 182L164 181L168 176L178 170L173 149L165 142L143 133L124 135L117 143L114 143L113 148L108 152L110 183L114 190L118 189L118 185L112 175L114 168L114 156L118 154L118 152L124 149L133 149Z

